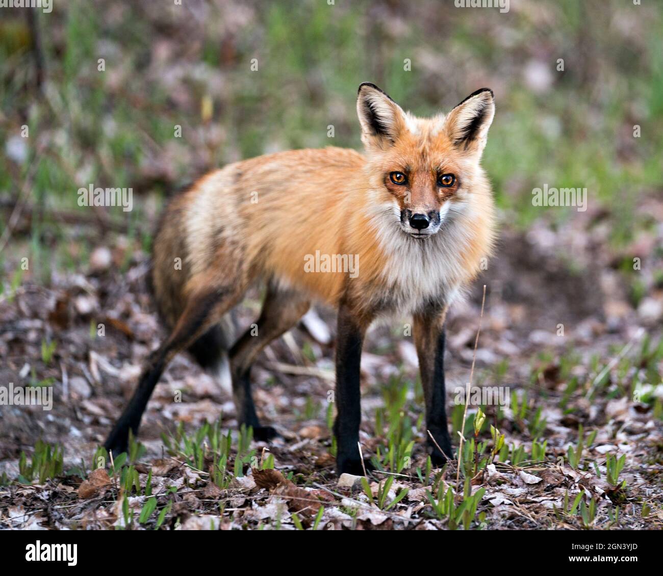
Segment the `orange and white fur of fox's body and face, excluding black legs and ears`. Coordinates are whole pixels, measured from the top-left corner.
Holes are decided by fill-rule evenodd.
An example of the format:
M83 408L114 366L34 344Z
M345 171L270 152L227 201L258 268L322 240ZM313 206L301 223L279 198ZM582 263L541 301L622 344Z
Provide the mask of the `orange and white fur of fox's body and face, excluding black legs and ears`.
M416 119L393 105L399 111L395 141L377 141L364 127L366 154L290 150L229 164L198 180L171 203L156 238L157 300L175 309L174 302L183 304L201 282L245 290L260 278L329 304L353 300L358 311L414 313L427 299L453 300L493 243L493 199L479 166L481 150L455 144L457 127L454 133L444 116ZM448 118L458 117L459 107ZM438 234L418 240L399 229L397 211L407 204L403 190L389 182L394 170L412 174L412 209L448 204L450 216ZM456 185L438 189L436 171L455 174ZM359 274L305 272L306 255L316 251L359 255ZM182 271L173 269L176 257ZM425 269L408 277L402 259ZM173 310L171 324L176 316Z

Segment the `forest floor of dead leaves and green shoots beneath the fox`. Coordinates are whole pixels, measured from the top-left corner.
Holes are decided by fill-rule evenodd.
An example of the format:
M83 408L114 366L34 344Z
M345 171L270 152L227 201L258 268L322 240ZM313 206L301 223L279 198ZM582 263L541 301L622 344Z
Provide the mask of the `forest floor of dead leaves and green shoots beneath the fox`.
M642 210L660 215L663 203ZM52 410L3 406L0 525L660 529L663 292L652 270L661 268L663 232L611 253L604 218L575 219L583 229L503 229L497 257L453 309L446 366L455 447L484 283L472 385L503 401L481 405L475 443L472 396L460 473L457 460L427 463L408 319L370 331L367 483L339 481L334 469L332 310L316 308L253 370L259 413L281 437L266 444L237 432L227 387L182 354L156 387L131 454L111 463L97 447L164 335L145 288L149 257L119 236L93 249L84 273L56 276L48 289L15 279L0 296L0 381L50 386L54 396ZM570 272L569 254L585 266ZM631 254L646 263L632 272L644 287L637 305L621 265ZM259 312L259 291L251 296L237 309L239 327Z

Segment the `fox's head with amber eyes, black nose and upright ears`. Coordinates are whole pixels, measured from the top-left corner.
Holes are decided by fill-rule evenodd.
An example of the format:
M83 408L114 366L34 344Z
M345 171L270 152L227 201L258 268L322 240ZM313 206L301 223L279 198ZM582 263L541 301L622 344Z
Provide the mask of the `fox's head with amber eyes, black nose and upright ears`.
M479 160L495 115L491 89L475 91L447 115L417 118L364 82L357 114L375 200L403 233L424 240L477 202L472 195L485 188Z

